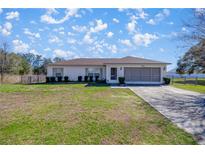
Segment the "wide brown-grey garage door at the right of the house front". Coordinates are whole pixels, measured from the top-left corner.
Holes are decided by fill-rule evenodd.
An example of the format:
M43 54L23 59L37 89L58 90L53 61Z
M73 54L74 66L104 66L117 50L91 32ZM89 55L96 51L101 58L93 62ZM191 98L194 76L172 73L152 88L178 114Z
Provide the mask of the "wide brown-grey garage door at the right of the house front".
M125 67L125 81L130 82L160 82L160 68Z

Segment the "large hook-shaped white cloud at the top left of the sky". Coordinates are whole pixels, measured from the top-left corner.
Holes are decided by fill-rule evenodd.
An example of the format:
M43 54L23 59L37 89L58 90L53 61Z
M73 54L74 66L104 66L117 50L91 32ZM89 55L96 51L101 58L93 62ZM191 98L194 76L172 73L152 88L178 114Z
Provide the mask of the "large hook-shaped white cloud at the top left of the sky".
M55 19L52 15L58 14L59 12L56 9L48 9L46 14L41 16L41 22L47 24L61 24L67 21L70 17L76 16L79 9L66 9L65 16L61 19Z

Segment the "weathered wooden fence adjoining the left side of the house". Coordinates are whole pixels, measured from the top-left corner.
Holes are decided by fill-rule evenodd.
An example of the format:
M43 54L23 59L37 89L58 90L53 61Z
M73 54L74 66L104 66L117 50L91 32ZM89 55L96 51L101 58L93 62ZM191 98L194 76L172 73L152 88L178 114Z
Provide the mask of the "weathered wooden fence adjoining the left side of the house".
M45 83L45 75L23 75L21 76L22 84L32 84L32 83Z

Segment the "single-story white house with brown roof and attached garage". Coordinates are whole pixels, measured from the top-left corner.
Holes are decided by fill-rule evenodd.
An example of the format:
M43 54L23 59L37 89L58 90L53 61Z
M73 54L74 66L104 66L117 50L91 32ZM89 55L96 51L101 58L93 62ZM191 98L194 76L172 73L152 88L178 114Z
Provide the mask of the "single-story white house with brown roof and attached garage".
M118 83L125 77L127 84L161 84L169 63L138 57L123 58L77 58L50 64L47 76L68 76L77 81L78 76L99 76L107 83Z

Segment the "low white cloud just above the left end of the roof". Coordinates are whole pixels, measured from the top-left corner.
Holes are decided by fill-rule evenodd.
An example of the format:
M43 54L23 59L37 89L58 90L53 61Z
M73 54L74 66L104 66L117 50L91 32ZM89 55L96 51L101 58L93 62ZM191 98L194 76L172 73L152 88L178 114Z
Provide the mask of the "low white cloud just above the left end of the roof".
M65 58L65 59L77 58L78 57L72 51L65 51L65 50L61 50L61 49L55 49L53 52L54 52L54 57L60 57L60 58Z

